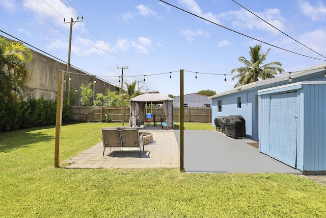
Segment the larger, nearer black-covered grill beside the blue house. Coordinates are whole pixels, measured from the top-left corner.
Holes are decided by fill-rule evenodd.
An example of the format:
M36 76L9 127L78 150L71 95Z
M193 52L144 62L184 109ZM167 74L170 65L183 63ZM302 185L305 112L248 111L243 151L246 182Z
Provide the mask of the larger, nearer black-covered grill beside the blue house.
M232 138L246 137L246 120L240 115L230 115L222 119L223 132Z

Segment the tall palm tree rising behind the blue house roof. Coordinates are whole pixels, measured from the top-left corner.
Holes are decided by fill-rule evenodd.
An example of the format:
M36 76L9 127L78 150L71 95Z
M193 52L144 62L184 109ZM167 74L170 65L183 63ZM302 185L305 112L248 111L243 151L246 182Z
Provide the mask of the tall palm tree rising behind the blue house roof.
M232 69L230 72L231 74L234 72L238 73L238 75L232 78L232 81L238 79L235 87L256 82L259 79L265 80L273 78L277 75L277 72L284 72L284 69L280 67L282 64L278 61L264 64L269 51L270 49L268 49L266 53L262 53L261 45L259 44L255 45L254 47L250 47L250 61L243 56L238 58L239 62L244 64L244 67Z

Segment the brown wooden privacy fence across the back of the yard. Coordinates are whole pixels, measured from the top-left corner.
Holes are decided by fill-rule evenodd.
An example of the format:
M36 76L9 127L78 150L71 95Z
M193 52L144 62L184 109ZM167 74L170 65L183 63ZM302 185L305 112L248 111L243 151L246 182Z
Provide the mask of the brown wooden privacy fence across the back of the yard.
M106 118L111 122L122 122L122 107L104 107L104 106L71 106L73 109L73 120L88 122L105 122ZM163 107L147 107L145 113L157 114L157 116L165 117ZM124 108L124 122L129 122L130 107ZM173 107L173 120L179 122L180 108ZM211 122L210 107L184 107L184 122Z

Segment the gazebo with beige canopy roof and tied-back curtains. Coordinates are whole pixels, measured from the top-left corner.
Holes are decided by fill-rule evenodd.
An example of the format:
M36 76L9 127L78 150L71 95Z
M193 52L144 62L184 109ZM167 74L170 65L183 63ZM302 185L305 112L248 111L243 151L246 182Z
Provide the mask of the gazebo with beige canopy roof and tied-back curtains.
M129 126L137 126L137 119L145 120L145 105L147 103L162 104L167 117L168 129L173 129L173 99L158 91L148 91L146 94L135 96L130 100Z

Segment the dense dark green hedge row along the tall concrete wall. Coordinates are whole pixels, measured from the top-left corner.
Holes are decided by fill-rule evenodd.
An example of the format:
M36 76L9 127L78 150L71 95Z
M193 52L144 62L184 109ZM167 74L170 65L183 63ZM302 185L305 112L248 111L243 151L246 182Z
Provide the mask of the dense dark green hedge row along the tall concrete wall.
M17 105L0 101L0 131L25 129L56 124L57 101L29 98ZM72 120L72 109L65 99L63 103L62 122Z

